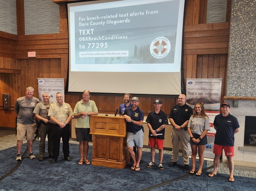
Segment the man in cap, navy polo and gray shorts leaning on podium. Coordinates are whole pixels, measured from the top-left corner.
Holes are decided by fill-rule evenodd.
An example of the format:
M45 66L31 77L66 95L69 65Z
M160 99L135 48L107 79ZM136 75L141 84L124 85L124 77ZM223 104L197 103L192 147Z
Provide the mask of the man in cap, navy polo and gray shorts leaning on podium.
M143 147L143 131L142 122L144 120L144 112L138 107L139 98L131 99L132 107L124 110L122 116L126 119L127 146L130 158L133 160L131 170L140 171L140 159ZM133 151L133 147L137 147L137 155Z

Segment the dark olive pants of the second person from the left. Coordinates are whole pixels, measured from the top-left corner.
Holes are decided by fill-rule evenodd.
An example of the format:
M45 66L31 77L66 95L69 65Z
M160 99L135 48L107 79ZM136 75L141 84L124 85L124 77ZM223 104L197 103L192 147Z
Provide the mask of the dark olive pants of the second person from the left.
M45 156L45 138L47 135L48 138L48 154L52 155L52 124L46 124L41 122L40 128L39 128L39 136L40 136L40 143L39 143L39 156L44 157Z

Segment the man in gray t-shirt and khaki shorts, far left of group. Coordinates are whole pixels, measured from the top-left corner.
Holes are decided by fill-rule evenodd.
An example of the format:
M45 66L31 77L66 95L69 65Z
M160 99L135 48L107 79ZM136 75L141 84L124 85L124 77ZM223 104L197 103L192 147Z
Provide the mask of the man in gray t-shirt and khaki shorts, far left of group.
M17 116L17 156L16 161L21 160L21 147L26 135L28 142L28 157L33 159L36 156L32 152L33 139L36 132L36 121L33 110L40 102L38 98L33 97L34 89L32 87L26 88L26 96L18 98L14 104Z

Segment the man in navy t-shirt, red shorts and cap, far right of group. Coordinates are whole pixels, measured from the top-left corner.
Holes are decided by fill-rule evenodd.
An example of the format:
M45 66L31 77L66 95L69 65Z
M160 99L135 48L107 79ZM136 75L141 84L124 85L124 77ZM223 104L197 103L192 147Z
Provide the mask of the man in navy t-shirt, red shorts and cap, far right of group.
M228 168L230 171L230 176L228 181L235 182L233 177L234 171L234 142L235 142L235 133L239 131L239 123L235 116L232 116L230 112L230 104L224 102L221 104L221 114L215 116L213 125L216 129L215 140L213 153L215 154L213 159L213 172L209 174L209 177L214 177L217 175L218 165L220 164L220 155L222 150L225 151L225 156L228 159Z

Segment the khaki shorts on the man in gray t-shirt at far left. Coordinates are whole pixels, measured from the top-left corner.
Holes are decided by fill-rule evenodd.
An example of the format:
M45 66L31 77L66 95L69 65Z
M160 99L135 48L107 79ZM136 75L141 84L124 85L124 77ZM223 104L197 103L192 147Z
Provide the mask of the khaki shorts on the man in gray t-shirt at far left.
M27 133L27 135L26 135ZM26 140L33 140L36 133L36 123L33 124L20 124L17 123L17 140L23 141L25 136Z

